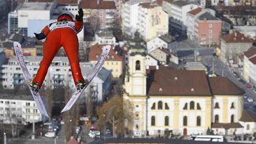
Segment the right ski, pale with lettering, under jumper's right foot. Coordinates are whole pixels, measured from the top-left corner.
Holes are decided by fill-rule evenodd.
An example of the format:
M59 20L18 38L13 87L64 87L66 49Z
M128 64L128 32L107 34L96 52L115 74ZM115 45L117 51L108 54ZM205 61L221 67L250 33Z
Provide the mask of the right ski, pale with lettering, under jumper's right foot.
M109 54L111 49L110 45L104 46L102 48L102 53L98 59L98 62L95 64L95 67L92 69L92 72L90 75L87 76L87 80L88 83L85 87L83 87L82 90L77 90L75 93L73 93L72 97L70 98L70 100L67 102L66 106L63 108L63 110L61 112L65 112L70 110L70 108L74 105L74 103L76 102L76 100L80 97L80 95L83 93L83 91L85 91L85 88L90 84L90 82L92 81L92 79L96 76L96 74L100 71L101 67L103 66L107 55Z

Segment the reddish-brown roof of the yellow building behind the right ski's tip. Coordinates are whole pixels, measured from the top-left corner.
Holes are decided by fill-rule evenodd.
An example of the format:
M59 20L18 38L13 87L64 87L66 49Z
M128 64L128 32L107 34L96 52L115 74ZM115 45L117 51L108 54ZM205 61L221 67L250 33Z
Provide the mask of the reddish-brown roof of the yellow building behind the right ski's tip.
M95 44L90 48L89 52L89 61L97 61L97 56L100 56L102 52L102 47L106 46L107 44ZM121 48L115 48L113 49L114 45L111 45L111 49L109 52L109 58L106 59L106 61L124 61L124 50Z

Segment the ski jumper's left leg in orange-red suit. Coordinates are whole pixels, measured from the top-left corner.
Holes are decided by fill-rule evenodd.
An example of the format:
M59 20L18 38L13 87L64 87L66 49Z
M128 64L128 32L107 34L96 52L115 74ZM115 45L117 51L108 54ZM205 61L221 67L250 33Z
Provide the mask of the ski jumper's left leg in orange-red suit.
M54 31L50 33L50 36L47 36L47 39L45 41L45 44L43 46L43 59L40 62L40 67L37 71L37 75L34 78L33 82L39 82L40 87L43 84L43 81L45 80L46 74L48 72L48 68L52 63L52 59L57 54L58 50L61 47L61 41L60 41L60 35L59 32Z

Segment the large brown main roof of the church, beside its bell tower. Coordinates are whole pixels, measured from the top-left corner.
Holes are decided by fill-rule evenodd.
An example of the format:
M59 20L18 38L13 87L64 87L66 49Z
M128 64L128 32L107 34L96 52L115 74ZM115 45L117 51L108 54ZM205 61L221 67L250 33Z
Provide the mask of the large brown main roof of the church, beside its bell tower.
M149 96L211 96L204 71L184 71L160 66L151 69Z

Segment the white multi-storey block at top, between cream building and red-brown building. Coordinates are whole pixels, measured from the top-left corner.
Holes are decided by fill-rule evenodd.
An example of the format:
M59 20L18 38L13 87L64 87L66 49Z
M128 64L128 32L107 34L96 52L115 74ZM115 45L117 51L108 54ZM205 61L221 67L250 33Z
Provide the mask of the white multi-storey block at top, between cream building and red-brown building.
M186 36L186 21L188 12L198 8L198 4L188 1L174 1L170 3L171 13L169 13L169 31L172 35Z

